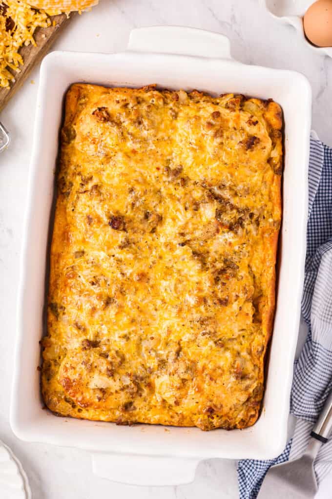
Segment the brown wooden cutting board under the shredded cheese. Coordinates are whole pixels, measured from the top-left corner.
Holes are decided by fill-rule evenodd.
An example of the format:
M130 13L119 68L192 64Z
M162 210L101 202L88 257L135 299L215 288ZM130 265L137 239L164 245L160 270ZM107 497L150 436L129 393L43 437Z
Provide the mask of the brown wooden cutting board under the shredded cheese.
M35 64L47 53L51 44L60 34L61 30L74 17L74 12L71 12L70 17L66 14L50 16L51 25L47 28L37 28L34 32L36 46L30 44L21 47L20 55L23 57L24 64L20 66L20 72L10 71L15 78L15 81L10 84L9 88L0 87L0 111L4 108L10 97L14 95L16 90L22 85L25 78L29 75Z

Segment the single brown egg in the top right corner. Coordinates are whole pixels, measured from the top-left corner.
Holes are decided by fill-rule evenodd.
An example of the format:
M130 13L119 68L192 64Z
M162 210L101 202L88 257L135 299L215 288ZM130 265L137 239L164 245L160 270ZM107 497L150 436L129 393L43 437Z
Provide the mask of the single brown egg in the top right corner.
M303 18L309 41L319 47L332 47L332 0L313 3Z

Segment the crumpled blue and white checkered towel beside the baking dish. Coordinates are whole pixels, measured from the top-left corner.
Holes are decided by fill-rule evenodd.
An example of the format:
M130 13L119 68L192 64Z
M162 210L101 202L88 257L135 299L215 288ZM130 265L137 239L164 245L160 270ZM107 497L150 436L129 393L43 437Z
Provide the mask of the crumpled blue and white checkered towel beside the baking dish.
M293 438L276 459L245 459L238 464L240 499L255 499L270 466L300 457L311 428L332 389L332 148L311 138L309 218L302 315L309 327L294 364L291 413ZM332 471L332 439L315 461L318 483Z

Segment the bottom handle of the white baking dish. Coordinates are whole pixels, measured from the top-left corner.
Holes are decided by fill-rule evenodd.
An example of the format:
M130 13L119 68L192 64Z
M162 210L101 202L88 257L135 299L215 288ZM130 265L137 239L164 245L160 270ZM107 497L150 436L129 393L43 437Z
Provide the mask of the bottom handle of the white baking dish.
M194 481L197 459L137 456L132 454L92 455L92 470L98 477L126 485L174 486Z

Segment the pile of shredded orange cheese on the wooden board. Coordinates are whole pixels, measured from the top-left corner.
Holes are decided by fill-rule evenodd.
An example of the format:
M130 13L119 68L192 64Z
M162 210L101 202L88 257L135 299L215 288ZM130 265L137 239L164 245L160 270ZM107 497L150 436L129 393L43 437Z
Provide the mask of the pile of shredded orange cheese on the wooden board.
M22 45L35 45L33 33L37 27L47 27L50 19L43 10L35 10L21 0L6 0L0 4L0 87L15 81L9 68L19 72L23 59L18 53Z

